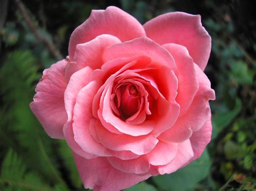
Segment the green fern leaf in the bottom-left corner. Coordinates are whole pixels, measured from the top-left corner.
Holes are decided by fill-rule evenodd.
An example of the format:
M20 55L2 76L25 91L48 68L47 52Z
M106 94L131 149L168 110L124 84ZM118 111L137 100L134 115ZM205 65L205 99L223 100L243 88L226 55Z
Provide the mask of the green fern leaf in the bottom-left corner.
M52 190L40 176L27 172L23 161L11 149L3 160L0 185L4 190Z

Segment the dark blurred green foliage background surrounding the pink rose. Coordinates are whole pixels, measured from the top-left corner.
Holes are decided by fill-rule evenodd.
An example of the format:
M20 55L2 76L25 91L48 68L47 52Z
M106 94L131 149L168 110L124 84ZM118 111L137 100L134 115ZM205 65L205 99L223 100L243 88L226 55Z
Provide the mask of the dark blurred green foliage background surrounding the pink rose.
M211 143L185 168L127 190L256 190L255 2L1 0L0 190L84 190L69 147L46 135L29 103L43 69L68 54L72 31L109 5L142 24L171 11L200 14L212 37Z

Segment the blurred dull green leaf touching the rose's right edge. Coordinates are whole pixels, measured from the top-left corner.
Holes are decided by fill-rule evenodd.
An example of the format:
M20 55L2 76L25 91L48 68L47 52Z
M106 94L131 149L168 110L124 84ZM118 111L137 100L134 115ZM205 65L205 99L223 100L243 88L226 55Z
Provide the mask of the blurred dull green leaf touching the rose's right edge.
M212 116L212 139L216 138L218 134L228 126L233 119L239 114L241 110L241 101L239 98L235 100L235 108L232 111L219 112Z

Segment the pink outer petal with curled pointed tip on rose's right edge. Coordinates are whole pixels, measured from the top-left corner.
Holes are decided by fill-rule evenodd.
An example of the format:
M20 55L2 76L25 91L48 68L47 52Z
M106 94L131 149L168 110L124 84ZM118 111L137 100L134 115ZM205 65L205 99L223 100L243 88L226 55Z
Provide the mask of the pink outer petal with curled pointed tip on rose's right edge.
M196 76L199 81L199 89L186 114L180 116L171 129L162 133L158 138L167 142L180 143L192 135L192 131L199 130L211 116L209 100L215 99L214 90L204 72L197 66Z

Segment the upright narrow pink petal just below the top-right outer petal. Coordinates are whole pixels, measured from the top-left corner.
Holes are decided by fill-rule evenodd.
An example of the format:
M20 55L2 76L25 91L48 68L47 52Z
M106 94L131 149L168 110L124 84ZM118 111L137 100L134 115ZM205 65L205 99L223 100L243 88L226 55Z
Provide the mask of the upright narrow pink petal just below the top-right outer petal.
M176 101L180 105L180 115L183 115L190 107L198 90L198 79L194 63L186 47L171 43L165 44L163 47L172 54L178 68L178 94Z

